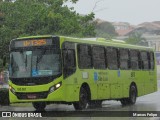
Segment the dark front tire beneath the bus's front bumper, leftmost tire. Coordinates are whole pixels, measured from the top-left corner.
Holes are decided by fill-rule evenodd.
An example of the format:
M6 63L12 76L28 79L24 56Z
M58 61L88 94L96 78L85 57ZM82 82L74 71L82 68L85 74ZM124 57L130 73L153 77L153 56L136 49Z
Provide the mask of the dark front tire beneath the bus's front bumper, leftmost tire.
M33 102L32 105L37 111L44 111L46 107L45 102Z

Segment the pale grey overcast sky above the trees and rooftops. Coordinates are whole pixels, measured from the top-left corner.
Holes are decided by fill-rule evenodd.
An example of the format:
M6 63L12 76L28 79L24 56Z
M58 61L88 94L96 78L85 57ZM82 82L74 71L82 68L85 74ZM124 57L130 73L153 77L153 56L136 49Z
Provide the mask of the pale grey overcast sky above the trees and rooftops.
M109 22L138 25L160 21L160 0L79 0L76 4L67 5L80 14L93 11L95 18Z

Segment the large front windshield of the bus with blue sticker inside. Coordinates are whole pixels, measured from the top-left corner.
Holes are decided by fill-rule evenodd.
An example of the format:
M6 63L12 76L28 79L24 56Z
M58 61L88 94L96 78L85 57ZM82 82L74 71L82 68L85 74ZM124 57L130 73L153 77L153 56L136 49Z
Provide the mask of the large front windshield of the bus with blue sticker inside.
M60 52L53 49L11 52L10 77L43 77L61 73Z

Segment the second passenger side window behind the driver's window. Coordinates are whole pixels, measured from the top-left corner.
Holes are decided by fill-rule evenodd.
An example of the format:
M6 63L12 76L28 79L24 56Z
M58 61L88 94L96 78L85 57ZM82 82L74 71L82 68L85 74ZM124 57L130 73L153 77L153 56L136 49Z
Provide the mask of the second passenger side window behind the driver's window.
M95 69L105 69L105 49L100 46L92 47L93 66Z

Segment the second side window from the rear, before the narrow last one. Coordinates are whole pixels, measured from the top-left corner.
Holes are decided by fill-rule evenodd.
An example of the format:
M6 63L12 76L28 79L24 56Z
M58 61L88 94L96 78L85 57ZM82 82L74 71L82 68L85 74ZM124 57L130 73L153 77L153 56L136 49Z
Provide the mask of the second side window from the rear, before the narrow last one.
M141 65L143 70L148 70L149 69L149 58L148 58L148 52L146 51L141 51L140 52L141 56Z

